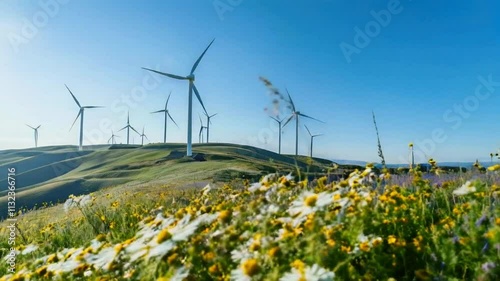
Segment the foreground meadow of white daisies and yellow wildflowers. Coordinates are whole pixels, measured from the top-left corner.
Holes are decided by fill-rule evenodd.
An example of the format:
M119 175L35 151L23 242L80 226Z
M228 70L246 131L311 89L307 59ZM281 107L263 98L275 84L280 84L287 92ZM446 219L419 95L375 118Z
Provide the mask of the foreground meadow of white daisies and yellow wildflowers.
M58 221L20 219L0 280L498 280L499 171L71 196Z

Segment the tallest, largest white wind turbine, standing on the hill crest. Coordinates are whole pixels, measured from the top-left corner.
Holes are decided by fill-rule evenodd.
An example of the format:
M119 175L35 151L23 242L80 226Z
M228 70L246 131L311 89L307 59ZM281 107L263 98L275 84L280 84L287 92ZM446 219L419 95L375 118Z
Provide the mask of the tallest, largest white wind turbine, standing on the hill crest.
M215 39L212 40L212 42L210 42L210 44L208 44L208 47L205 49L205 51L203 51L203 53L201 54L201 56L198 58L198 60L196 60L196 62L194 63L193 67L191 68L191 73L188 75L188 76L179 76L179 75L174 75L174 74L170 74L170 73L165 73L165 72L160 72L160 71L156 71L156 70L153 70L153 69L149 69L149 68L144 68L145 70L148 70L148 71L152 71L152 72L155 72L155 73L158 73L158 74L161 74L161 75L164 75L164 76L167 76L167 77L170 77L170 78L174 78L174 79L177 79L177 80L188 80L189 81L189 96L188 96L188 134L187 134L187 149L186 149L186 155L187 156L192 156L193 155L193 152L192 152L192 125L193 125L193 91L196 95L196 98L198 98L198 101L200 102L201 106L203 107L203 110L205 112L207 112L207 110L205 109L205 105L203 105L203 102L201 101L201 97L200 97L200 93L198 92L198 89L196 89L196 86L194 85L194 80L195 80L195 76L194 76L194 71L196 70L196 68L198 67L198 64L200 63L201 59L203 58L203 56L205 55L205 53L207 52L208 48L210 48L210 46L212 45L212 43L215 41Z

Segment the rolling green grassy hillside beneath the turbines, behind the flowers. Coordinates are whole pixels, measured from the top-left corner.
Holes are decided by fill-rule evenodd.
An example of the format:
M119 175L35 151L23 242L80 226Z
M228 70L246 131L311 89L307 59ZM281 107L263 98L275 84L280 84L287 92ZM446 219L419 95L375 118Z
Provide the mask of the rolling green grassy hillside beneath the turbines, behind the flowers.
M0 185L7 186L7 169L16 168L16 207L64 201L70 194L90 193L123 185L187 185L256 180L269 172L320 175L332 162L278 155L234 144L194 145L200 159L184 157L184 144L140 146L73 146L0 151ZM204 160L204 161L201 161ZM7 190L0 192L1 216L6 214Z

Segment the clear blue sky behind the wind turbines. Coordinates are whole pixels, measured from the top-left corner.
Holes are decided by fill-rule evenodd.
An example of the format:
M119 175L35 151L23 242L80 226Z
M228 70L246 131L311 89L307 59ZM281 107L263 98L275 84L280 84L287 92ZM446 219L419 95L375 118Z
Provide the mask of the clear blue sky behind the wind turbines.
M383 11L383 26L372 11ZM180 128L169 126L167 138L185 142L187 83L141 67L187 75L216 38L196 73L207 110L219 114L211 141L277 149L264 76L326 122L301 120L325 134L315 140L315 156L378 161L374 110L387 162L406 162L411 141L438 162L489 160L500 148L499 11L493 0L2 1L0 149L33 146L26 123L42 124L39 145L77 145L79 124L69 128L78 108L65 83L82 104L106 106L86 112L85 145L105 143L111 129L125 126L128 108L132 126L146 125L160 142L162 116L149 112L170 91ZM356 31L367 27L368 44ZM355 52L346 57L347 45ZM137 94L151 77L160 83ZM294 139L290 124L283 152L293 153ZM308 149L301 126L299 152Z

